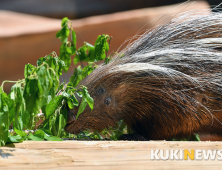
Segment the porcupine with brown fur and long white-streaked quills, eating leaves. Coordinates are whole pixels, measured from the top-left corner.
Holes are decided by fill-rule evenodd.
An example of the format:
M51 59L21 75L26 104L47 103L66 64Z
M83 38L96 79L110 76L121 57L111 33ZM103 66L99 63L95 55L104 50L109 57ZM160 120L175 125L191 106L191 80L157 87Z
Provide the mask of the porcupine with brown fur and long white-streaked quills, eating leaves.
M65 130L102 130L124 120L129 140L222 136L222 13L186 12L147 31L80 85L94 98Z

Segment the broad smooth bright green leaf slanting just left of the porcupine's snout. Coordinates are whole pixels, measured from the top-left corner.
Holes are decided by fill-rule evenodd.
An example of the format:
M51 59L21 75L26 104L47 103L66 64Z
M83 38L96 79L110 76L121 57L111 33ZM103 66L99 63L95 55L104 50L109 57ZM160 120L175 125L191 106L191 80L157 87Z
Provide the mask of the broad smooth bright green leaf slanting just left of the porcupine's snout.
M55 113L56 109L62 104L62 100L64 96L56 96L53 100L49 102L46 106L46 119L49 118L53 113Z

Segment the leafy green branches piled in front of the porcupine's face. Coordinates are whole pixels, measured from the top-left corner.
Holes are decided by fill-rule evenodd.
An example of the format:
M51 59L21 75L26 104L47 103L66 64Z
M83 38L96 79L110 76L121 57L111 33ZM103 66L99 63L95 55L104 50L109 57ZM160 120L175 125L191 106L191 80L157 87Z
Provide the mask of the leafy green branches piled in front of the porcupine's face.
M24 140L54 140L70 136L64 131L67 123L67 107L79 106L78 116L88 104L93 110L94 101L85 86L78 84L96 69L96 61L106 57L109 45L108 35L97 38L95 46L85 42L76 48L76 33L71 21L62 19L61 30L56 33L61 40L59 57L55 52L41 57L37 65L26 64L24 79L4 81L0 87L0 146L6 142L22 142ZM69 41L69 37L71 41ZM63 72L71 65L72 56L75 68L67 85L59 81ZM84 67L82 62L88 62ZM15 83L7 95L3 91L4 83ZM82 98L81 103L76 95ZM42 113L41 113L42 111ZM77 116L77 117L78 117ZM39 122L43 122L39 125ZM9 130L10 126L10 130Z

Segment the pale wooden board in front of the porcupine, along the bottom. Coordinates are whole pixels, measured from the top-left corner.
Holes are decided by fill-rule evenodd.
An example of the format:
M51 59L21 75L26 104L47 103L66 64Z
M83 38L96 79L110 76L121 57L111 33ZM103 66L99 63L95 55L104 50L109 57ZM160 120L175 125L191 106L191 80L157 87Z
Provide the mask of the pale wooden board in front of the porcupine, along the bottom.
M151 160L151 149L222 149L222 142L26 141L0 148L0 169L221 169L218 160Z

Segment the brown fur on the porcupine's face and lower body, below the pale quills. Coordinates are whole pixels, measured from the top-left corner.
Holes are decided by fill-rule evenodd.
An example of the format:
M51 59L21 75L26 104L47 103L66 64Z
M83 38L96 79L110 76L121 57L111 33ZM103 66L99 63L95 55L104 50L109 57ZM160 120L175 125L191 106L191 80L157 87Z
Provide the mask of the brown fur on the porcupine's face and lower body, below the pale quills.
M121 76L122 79L124 76L128 77ZM207 85L203 87L204 90L196 89L182 77L178 77L180 81L184 81L182 86L171 82L172 78L164 77L157 79L131 75L121 83L120 77L108 77L102 81L106 79L112 85L97 82L89 88L95 100L94 111L91 112L87 107L78 120L72 122L72 126L66 127L67 131L75 134L83 129L100 131L123 119L136 134L147 140L170 140L173 137L191 136L193 133L221 134L222 105L221 98L218 98L221 94L212 94ZM166 88L164 82L168 82L170 86ZM186 94L193 98L187 98L184 92L180 93L181 88L186 86L190 88ZM103 88L103 93L98 92L100 88ZM109 106L104 104L106 97L111 98ZM197 104L194 100L200 103ZM77 109L71 110L69 116L76 116Z

